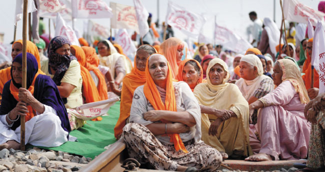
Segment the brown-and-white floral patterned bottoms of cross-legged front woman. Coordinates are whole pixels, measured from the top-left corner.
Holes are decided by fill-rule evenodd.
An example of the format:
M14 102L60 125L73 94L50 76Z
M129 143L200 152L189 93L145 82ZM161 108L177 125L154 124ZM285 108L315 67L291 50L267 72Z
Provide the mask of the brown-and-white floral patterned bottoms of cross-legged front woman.
M213 172L222 162L221 154L203 141L184 142L187 154L175 151L173 145L164 144L143 125L129 123L123 128L122 137L131 158L141 165L149 163L156 170L176 171L178 166L196 167L199 171Z

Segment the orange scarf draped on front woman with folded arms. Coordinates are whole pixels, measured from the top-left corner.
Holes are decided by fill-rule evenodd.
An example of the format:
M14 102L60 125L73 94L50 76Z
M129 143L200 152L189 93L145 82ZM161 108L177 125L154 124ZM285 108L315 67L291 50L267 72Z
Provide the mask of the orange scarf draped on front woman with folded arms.
M170 39L170 38L169 38ZM152 55L151 55L152 56ZM150 57L149 57L150 58ZM163 104L160 98L160 94L157 90L157 87L154 81L151 78L148 69L148 60L146 60L146 67L145 67L145 78L146 83L143 87L143 92L146 99L150 102L154 110L165 110L165 111L173 111L176 112L176 100L174 94L174 87L172 85L172 73L169 62L167 62L168 66L168 74L166 76L166 98L165 103ZM170 123L168 121L162 120L163 123ZM174 143L174 148L176 151L182 150L184 153L188 153L183 142L180 139L179 134L167 134L170 137L170 142Z

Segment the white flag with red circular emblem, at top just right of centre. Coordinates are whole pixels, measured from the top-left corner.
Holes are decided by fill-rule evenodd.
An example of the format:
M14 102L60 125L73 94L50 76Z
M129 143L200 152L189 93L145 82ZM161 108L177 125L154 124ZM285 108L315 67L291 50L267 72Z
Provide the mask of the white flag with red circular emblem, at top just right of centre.
M168 1L166 23L177 28L184 34L197 38L205 18L194 12Z

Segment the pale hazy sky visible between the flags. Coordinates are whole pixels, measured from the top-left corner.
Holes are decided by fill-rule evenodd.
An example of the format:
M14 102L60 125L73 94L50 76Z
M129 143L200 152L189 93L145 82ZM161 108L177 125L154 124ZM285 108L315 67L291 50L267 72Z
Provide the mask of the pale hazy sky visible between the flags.
M133 0L104 0L108 5L109 2L116 2L125 5L133 6ZM159 23L165 20L167 12L168 0L141 0L148 12L152 13L152 21L159 18ZM303 4L308 5L313 9L317 9L319 0L299 0ZM275 2L275 22L280 27L281 24L281 9L279 0L173 0L172 2L186 8L189 11L204 15L207 19L203 25L203 34L212 38L214 30L214 18L218 25L227 27L236 32L243 38L246 36L246 27L252 24L249 20L248 13L255 11L257 17L263 19L270 17L273 19L273 6ZM157 4L159 6L159 13ZM13 25L15 0L1 0L0 3L0 32L4 33L4 43L9 43L13 40ZM93 21L109 27L109 18L92 19ZM51 21L51 33L54 32L53 21ZM74 22L75 28L83 31L84 19L76 19ZM45 30L48 32L48 19L44 18ZM69 23L71 24L71 22ZM117 32L117 30L115 30ZM114 33L114 31L113 31ZM179 30L174 29L174 36L180 39L186 39L187 36ZM22 20L17 22L16 39L22 38Z

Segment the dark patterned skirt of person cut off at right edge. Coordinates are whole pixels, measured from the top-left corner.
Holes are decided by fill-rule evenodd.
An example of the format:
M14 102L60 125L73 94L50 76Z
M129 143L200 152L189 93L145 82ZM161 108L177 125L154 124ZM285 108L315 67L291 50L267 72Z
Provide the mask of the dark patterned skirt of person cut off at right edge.
M325 112L319 112L317 124L312 124L309 138L307 167L320 169L325 167Z

